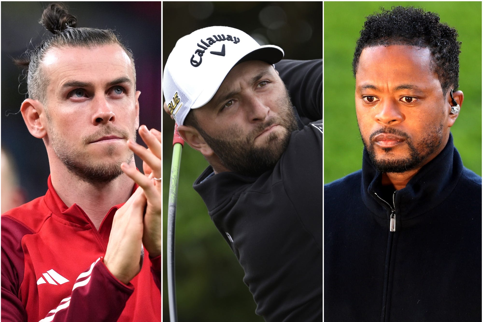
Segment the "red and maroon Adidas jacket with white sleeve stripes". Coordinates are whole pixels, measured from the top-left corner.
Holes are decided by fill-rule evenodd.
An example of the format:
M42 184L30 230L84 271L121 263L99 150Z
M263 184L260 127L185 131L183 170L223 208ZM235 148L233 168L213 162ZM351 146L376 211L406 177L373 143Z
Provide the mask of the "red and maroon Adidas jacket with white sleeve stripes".
M128 285L102 262L122 204L97 231L78 205L62 202L50 176L48 188L1 216L2 321L161 321L161 256L150 259L144 249Z

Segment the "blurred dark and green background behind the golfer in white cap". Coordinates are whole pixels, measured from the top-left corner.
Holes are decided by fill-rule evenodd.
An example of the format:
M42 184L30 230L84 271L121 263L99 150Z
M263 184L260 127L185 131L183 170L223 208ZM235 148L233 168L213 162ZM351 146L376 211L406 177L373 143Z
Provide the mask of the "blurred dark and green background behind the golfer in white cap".
M286 59L322 58L322 2L163 2L163 66L176 41L209 26L241 29L259 44L284 49ZM163 116L163 214L166 215L174 121ZM243 270L216 230L193 182L208 163L183 149L176 214L176 290L180 322L263 321L243 283ZM322 164L321 164L322 166ZM165 252L166 263L166 252ZM322 272L321 272L322 274ZM169 321L166 265L163 321Z

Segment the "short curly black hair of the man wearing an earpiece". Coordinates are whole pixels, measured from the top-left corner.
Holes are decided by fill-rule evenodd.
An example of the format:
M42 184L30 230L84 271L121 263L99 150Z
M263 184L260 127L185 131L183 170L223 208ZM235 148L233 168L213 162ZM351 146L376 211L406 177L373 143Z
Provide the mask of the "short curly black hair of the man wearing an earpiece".
M443 95L450 87L457 89L461 42L457 41L456 29L440 23L438 14L421 8L398 6L380 10L381 13L366 17L364 28L360 31L352 61L354 77L364 48L407 44L429 48Z

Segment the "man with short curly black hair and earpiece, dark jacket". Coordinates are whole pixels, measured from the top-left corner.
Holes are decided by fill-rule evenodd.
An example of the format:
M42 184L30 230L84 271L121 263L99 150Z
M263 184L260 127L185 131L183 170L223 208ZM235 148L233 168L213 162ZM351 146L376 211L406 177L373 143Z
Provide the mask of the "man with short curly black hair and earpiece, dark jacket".
M362 170L325 186L327 321L481 321L482 179L453 145L457 31L422 9L357 41Z

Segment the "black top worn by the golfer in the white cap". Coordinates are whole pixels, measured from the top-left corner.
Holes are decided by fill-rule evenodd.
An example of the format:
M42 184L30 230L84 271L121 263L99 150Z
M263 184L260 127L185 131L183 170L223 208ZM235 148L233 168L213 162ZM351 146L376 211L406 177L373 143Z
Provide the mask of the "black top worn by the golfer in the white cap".
M256 313L274 322L322 321L322 61L276 67L303 106L300 117L320 120L292 132L273 170L213 176L208 167L193 187L240 262Z

